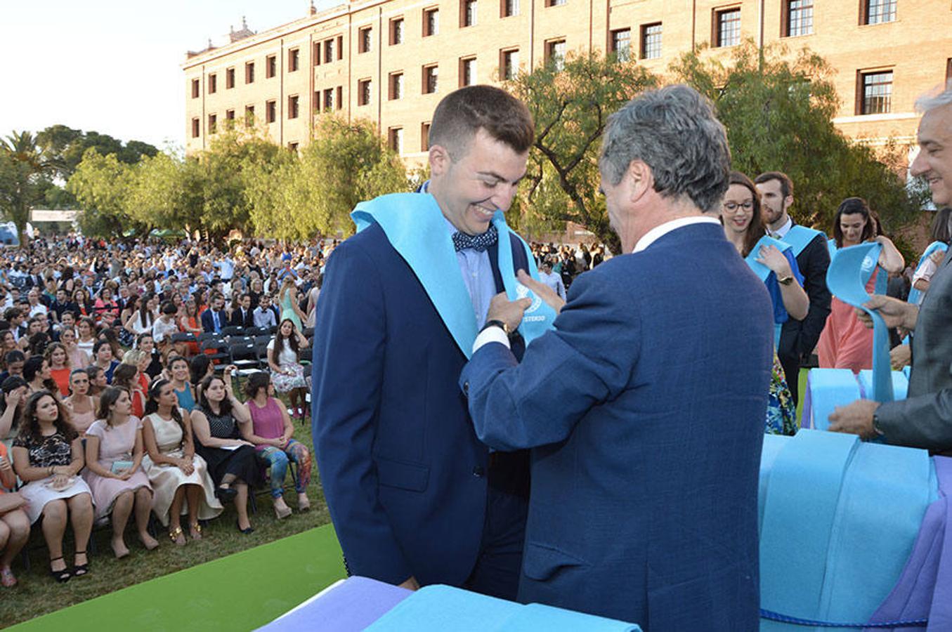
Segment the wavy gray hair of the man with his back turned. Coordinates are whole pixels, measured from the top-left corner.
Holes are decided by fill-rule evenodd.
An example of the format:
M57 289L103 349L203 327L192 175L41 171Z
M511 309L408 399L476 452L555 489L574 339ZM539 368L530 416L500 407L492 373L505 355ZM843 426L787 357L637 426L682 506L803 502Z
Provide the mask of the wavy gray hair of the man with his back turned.
M705 212L727 190L727 134L710 101L688 86L646 91L608 118L599 166L611 184L622 181L633 160L651 168L664 197L686 195Z

